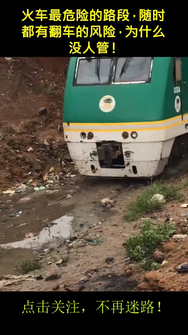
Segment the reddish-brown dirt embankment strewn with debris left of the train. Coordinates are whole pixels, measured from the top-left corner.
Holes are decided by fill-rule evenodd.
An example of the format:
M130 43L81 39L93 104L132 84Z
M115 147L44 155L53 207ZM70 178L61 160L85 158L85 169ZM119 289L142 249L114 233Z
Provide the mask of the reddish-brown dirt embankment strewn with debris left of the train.
M0 191L61 165L65 57L0 58ZM39 112L45 107L46 111ZM58 127L59 126L59 127ZM29 148L32 148L28 150Z

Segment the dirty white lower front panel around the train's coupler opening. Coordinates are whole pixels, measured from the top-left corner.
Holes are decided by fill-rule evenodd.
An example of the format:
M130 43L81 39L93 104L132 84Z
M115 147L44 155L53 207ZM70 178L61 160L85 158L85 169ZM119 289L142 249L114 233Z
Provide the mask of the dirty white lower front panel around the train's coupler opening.
M67 142L67 145L70 156L82 176L149 178L163 172L173 143L174 138L163 142L122 143L123 154L129 151L130 156L127 158L124 154L125 167L120 169L100 167L98 156L91 155L93 151L97 152L95 142Z

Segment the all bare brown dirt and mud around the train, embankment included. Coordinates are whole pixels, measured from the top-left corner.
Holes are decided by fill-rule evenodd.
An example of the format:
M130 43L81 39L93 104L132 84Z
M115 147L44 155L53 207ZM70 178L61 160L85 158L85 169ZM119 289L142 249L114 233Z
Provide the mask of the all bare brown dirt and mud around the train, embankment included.
M141 270L125 251L143 220L126 222L124 214L147 181L77 174L61 127L66 64L63 57L0 59L0 290L187 291L188 274L176 270L187 262L187 238L161 244L158 271ZM165 181L183 187L185 166L177 175L168 170ZM113 203L103 206L104 198ZM181 204L167 202L150 215L153 224L172 217L185 234ZM42 267L19 275L35 259Z

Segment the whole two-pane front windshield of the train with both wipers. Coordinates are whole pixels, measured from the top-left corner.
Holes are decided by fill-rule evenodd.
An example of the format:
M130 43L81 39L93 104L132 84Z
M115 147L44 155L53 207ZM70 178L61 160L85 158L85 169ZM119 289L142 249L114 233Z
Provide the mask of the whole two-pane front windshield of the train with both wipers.
M78 58L74 85L149 82L152 57Z

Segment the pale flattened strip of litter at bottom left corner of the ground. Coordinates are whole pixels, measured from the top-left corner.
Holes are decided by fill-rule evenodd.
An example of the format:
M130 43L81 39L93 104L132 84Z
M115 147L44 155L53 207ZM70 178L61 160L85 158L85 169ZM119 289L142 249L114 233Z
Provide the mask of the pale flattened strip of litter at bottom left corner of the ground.
M35 281L35 280L42 280L42 279L43 277L41 276L41 274L20 275L20 276L14 276L14 275L2 276L0 278L0 288L2 288L3 286L17 284L18 282L21 282L21 281Z

